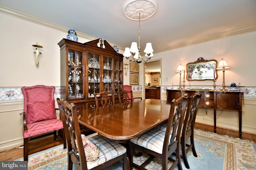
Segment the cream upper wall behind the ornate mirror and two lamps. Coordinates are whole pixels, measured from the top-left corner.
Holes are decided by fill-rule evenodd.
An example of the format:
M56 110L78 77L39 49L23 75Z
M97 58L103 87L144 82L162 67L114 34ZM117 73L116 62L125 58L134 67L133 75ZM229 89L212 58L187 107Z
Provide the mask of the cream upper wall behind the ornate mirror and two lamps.
M154 46L154 45L152 45ZM256 32L245 33L228 38L173 49L156 53L152 59L162 58L162 85L179 84L179 73L176 72L181 63L186 68L187 63L196 61L199 57L206 60L226 60L230 69L225 71L225 84L232 82L241 86L256 86ZM216 85L222 86L222 70L218 71ZM169 77L169 81L166 78ZM212 85L212 81L186 81L185 85Z

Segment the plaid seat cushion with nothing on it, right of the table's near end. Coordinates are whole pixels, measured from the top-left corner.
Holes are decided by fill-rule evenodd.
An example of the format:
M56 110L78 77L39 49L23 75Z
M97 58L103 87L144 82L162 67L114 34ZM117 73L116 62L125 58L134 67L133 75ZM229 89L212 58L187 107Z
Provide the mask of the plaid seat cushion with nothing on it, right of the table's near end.
M144 148L153 150L159 154L162 154L164 145L165 131L153 128L146 133L143 133L137 137L134 137L130 141L136 145L140 145Z

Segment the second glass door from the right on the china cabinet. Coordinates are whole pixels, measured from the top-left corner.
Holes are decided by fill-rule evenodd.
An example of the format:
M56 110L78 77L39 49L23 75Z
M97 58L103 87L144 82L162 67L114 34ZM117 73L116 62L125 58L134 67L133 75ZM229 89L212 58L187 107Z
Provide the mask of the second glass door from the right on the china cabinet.
M103 57L103 91L113 92L113 59Z

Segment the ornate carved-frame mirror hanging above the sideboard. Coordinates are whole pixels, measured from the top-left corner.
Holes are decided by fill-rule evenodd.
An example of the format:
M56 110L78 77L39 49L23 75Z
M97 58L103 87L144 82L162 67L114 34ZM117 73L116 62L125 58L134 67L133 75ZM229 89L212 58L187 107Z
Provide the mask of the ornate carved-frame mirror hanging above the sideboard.
M200 57L194 63L188 63L187 80L188 81L204 81L215 80L218 78L216 67L218 62L216 60L205 60Z

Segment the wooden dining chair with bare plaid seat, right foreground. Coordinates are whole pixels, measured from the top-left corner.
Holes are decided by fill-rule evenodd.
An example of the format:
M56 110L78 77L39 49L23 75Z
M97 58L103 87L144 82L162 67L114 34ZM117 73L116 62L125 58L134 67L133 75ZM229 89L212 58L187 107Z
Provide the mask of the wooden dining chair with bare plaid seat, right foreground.
M133 167L139 170L145 170L145 166L150 163L150 160L154 157L158 157L162 160L163 170L168 169L168 160L172 162L169 169L174 169L178 166L178 169L182 170L180 154L176 154L173 158L171 156L175 152L180 152L180 136L187 102L188 98L185 97L172 100L166 131L153 128L130 140L129 153L133 153L136 149L150 155L148 160L138 165L133 162L133 155L129 154L130 170L132 170Z

